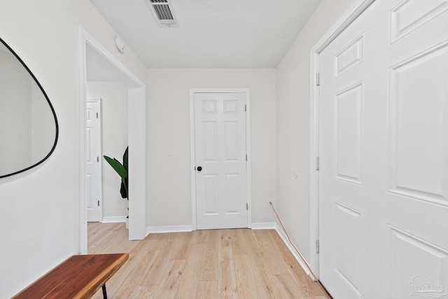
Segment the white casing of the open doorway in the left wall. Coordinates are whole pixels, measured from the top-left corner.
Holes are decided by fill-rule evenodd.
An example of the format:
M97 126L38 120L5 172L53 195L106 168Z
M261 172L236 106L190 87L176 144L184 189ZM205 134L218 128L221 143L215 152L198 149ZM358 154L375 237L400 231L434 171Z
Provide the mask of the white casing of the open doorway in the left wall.
M87 61L86 47L91 46L107 62L118 69L126 79L128 86L128 145L132 148L129 156L130 196L129 202L129 239L146 237L146 85L125 67L101 43L78 27L78 72L79 72L79 252L87 253L87 209L85 204L85 109L87 99Z

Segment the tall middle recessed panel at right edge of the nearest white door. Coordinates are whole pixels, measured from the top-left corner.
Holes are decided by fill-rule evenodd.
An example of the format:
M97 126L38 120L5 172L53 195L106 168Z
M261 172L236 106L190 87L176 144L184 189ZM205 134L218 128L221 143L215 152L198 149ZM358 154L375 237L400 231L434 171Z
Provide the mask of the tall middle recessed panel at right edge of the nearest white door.
M448 205L447 67L448 43L391 69L390 142L392 192Z

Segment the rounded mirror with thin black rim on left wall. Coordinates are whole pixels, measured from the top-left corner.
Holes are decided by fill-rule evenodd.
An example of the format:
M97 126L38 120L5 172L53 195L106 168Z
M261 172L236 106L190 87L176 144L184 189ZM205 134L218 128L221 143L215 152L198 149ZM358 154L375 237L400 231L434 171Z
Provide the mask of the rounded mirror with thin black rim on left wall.
M27 65L0 39L0 178L36 167L55 150L57 118Z

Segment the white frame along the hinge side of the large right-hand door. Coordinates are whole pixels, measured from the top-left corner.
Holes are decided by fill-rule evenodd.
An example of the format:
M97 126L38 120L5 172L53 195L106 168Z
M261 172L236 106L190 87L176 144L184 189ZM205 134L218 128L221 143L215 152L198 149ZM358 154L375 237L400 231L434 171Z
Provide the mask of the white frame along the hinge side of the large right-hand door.
M319 256L316 253L316 241L319 239L319 174L316 170L319 155L319 89L318 73L321 52L351 22L358 18L375 0L356 0L353 5L335 22L323 37L311 48L310 86L309 86L309 264L318 278Z

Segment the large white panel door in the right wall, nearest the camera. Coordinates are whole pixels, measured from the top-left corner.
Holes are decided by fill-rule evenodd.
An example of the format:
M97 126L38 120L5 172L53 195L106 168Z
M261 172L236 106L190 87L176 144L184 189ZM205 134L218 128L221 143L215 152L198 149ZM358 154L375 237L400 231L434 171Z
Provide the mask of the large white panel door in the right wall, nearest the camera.
M320 58L320 280L448 298L448 0L377 0Z

